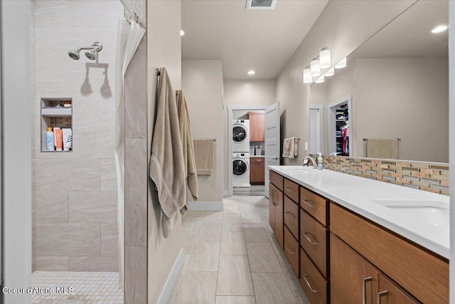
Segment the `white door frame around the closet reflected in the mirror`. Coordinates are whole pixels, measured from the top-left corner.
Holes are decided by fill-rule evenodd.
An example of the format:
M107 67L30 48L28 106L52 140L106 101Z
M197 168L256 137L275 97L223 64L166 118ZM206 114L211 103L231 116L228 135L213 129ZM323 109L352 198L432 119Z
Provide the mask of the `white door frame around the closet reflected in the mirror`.
M336 120L336 107L343 103L348 103L348 115L349 115L349 156L352 157L354 153L354 139L353 139L353 95L349 94L343 98L333 101L327 105L327 154L336 152L336 135L335 132L335 120ZM332 131L331 131L332 130ZM352 153L351 153L352 151Z

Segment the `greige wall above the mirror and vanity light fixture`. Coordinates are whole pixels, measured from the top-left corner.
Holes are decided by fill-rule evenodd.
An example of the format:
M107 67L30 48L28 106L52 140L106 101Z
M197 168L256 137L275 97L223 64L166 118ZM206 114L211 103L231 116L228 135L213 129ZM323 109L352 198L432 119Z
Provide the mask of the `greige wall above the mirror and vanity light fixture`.
M277 100L282 111L282 138L300 135L299 150L309 142L309 85L302 72L323 47L340 61L392 21L414 1L329 1L294 56L277 79ZM284 164L301 164L305 153Z

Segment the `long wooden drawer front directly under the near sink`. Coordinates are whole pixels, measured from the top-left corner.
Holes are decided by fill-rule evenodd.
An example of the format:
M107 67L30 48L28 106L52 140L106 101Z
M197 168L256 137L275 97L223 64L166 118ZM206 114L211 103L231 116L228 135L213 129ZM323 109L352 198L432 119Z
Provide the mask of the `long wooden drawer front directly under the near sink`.
M449 263L331 203L331 231L422 303L449 302Z

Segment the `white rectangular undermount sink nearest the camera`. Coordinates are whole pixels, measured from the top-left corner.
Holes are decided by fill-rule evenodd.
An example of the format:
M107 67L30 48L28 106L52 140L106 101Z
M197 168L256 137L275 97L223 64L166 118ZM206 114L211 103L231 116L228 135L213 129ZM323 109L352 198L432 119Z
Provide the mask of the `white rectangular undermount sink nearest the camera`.
M449 229L449 204L431 200L374 200L376 204L399 211L432 226Z

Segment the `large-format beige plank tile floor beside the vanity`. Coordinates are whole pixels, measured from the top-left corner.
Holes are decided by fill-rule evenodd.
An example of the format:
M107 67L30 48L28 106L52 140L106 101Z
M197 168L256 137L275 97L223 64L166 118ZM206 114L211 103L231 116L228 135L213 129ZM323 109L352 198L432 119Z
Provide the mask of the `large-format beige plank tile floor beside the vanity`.
M223 211L188 211L185 263L170 304L310 304L269 226L264 196L232 196Z

